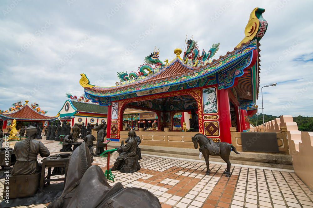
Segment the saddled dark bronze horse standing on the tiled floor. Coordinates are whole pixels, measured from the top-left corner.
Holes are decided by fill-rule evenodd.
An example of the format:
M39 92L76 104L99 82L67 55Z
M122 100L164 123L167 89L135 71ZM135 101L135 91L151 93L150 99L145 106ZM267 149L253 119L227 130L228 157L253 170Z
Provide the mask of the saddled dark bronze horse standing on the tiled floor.
M210 174L209 168L209 155L212 156L221 156L222 159L227 163L227 171L224 172L226 177L230 177L230 162L229 162L229 155L230 149L236 154L240 154L236 151L236 148L227 142L213 142L212 139L208 139L201 133L197 133L194 137L191 138L194 144L195 149L198 148L199 143L199 151L202 152L203 157L205 159L205 163L207 164L207 171L205 175Z

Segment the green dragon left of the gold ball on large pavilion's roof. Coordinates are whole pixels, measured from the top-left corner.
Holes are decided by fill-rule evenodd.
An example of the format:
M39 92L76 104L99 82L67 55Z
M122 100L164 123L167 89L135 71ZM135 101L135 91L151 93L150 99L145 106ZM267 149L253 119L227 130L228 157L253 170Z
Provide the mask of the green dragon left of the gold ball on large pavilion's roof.
M146 76L155 74L156 72L164 69L165 64L163 64L163 62L159 60L159 53L160 50L155 47L154 52L146 56L145 63L139 66L137 73L134 71L129 74L127 74L127 71L117 72L117 77L120 80L120 85L125 85L134 81L144 79L146 78ZM147 70L147 72L145 70Z

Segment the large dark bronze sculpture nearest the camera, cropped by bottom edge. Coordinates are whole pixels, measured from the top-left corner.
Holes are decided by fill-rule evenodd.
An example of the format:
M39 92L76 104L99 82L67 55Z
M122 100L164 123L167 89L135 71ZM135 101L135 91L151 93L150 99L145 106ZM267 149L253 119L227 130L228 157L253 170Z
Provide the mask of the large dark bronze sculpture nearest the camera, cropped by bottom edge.
M73 152L67 173L62 195L48 208L161 208L156 196L145 189L124 188L120 182L110 186L103 170L97 165L91 166L90 151L85 143Z

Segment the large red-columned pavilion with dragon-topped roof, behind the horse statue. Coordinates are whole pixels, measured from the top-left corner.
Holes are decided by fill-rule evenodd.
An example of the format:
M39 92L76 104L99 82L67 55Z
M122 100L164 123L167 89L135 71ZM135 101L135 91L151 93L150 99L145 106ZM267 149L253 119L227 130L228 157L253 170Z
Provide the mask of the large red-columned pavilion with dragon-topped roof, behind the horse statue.
M107 138L119 141L127 108L155 112L158 129L169 131L174 130L175 114L195 110L199 133L231 143L230 128L236 127L238 132L249 128L247 107L253 106L258 99L259 41L267 29L267 21L262 17L264 11L257 7L251 12L243 40L218 59L213 56L219 43L213 44L208 52L200 51L198 42L193 40L195 37L189 40L186 37L183 54L177 48L174 50L176 58L163 63L159 60L160 51L155 49L146 56L138 72L117 73L120 85L91 85L86 74L81 74L80 85L84 87L85 96L107 107ZM149 144L153 144L153 136L149 138ZM174 136L162 141L172 138ZM185 140L175 141L183 143ZM155 142L163 145L160 141ZM173 147L175 145L177 143Z

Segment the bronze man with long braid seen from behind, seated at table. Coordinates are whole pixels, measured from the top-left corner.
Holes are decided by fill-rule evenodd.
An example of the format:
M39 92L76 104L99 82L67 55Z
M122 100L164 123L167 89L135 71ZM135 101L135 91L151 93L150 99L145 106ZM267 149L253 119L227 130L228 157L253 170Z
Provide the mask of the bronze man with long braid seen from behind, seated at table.
M37 128L32 125L26 129L27 139L15 143L14 154L16 162L13 166L11 175L28 175L41 172L41 163L38 163L37 157L48 157L49 150L38 140L35 140Z

